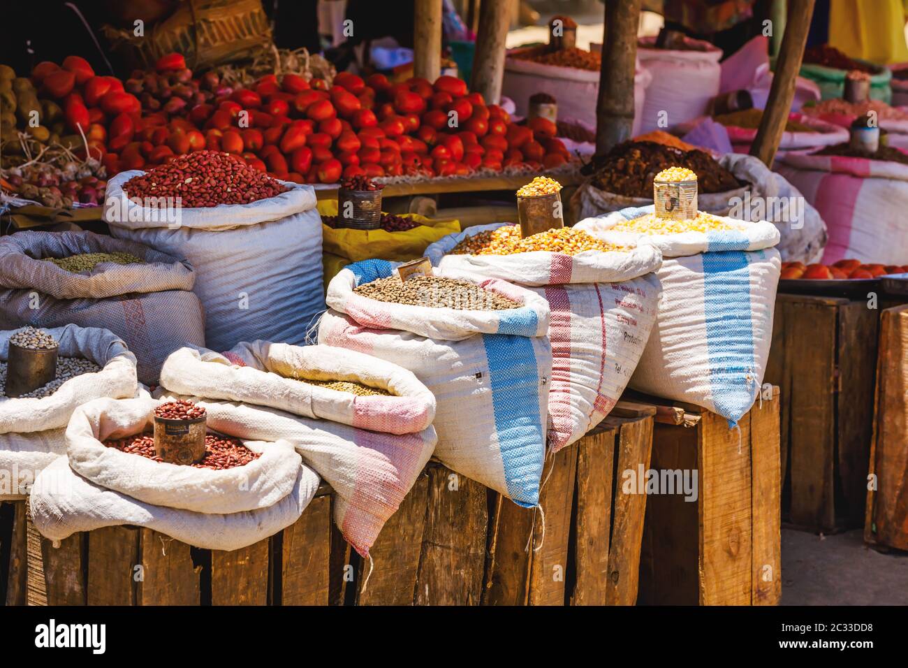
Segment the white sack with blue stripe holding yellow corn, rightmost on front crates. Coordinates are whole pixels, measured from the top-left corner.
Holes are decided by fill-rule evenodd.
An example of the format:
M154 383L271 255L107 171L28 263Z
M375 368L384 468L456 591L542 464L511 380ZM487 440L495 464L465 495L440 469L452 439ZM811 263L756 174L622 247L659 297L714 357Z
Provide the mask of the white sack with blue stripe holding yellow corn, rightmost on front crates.
M759 394L773 335L782 260L775 225L699 212L664 221L625 209L577 227L647 238L662 251L658 319L630 387L696 404L737 424Z

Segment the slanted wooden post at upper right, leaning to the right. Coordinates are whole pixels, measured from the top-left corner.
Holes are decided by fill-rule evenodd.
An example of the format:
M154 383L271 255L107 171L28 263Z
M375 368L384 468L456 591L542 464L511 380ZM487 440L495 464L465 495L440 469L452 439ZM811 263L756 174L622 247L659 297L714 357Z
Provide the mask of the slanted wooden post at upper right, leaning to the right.
M792 100L795 99L795 79L801 70L807 31L813 15L814 0L789 0L785 36L775 63L773 85L769 89L760 129L750 147L750 155L760 158L767 166L773 165L775 152L782 141L782 133L785 132L785 121L791 111Z

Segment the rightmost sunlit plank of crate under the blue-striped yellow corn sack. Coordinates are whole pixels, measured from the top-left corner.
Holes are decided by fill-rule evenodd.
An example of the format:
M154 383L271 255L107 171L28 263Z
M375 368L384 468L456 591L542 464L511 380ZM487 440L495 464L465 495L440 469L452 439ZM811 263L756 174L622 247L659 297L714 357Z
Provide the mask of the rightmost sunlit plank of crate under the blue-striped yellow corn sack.
M777 605L782 597L782 497L779 396L750 411L753 582L751 603Z

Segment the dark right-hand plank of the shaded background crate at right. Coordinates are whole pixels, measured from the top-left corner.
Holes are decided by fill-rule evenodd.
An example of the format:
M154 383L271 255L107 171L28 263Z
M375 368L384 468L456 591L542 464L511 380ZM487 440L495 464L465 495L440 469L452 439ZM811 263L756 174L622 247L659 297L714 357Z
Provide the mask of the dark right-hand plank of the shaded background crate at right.
M879 315L856 300L839 307L838 324L835 472L841 493L834 514L836 523L851 528L864 521Z

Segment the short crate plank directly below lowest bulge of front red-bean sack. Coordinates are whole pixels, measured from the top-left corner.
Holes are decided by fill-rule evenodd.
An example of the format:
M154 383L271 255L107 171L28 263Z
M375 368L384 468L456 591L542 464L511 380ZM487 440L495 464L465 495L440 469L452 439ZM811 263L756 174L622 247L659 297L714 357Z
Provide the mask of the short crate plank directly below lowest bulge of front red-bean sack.
M212 605L268 604L268 539L239 550L212 550Z

